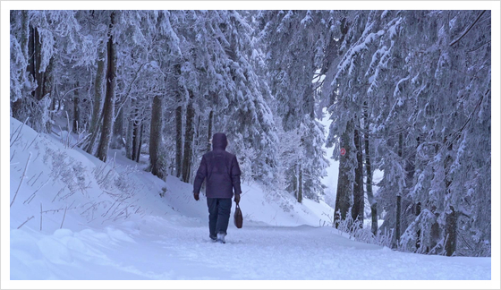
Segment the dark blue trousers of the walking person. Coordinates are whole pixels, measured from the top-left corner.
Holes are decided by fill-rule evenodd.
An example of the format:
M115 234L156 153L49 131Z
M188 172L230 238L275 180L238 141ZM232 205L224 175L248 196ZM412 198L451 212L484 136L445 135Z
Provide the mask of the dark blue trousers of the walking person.
M225 234L228 229L232 199L207 198L208 205L208 231L210 236Z

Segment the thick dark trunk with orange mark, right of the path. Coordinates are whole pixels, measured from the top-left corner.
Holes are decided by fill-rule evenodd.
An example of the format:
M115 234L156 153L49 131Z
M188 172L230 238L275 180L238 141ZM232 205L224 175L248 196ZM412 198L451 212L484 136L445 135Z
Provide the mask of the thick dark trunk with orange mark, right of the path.
M339 175L337 178L337 191L335 193L335 227L339 226L339 222L346 218L346 214L350 209L350 200L353 194L353 183L350 179L352 175L351 166L352 148L350 143L353 139L353 121L348 121L346 130L341 136L341 148L346 150L344 156L339 158Z

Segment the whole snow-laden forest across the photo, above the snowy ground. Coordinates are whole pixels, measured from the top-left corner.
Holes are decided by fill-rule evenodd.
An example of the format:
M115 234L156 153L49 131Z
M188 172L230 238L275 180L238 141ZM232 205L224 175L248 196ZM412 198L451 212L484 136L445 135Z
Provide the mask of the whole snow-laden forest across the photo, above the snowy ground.
M10 16L11 114L39 132L61 127L91 154L146 155L147 170L186 183L225 132L245 182L299 202L322 199L326 143L342 218L367 194L375 239L490 254L488 11Z

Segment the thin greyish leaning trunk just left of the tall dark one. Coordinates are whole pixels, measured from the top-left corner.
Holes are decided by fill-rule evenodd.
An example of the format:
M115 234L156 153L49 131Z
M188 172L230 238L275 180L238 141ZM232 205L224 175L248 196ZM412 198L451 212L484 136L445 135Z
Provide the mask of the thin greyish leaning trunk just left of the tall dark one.
M106 49L99 49L98 53L98 71L96 72L96 81L94 85L94 100L92 104L92 117L90 119L90 141L85 149L87 153L92 154L96 140L98 139L99 124L101 122L103 85L105 84L106 72Z

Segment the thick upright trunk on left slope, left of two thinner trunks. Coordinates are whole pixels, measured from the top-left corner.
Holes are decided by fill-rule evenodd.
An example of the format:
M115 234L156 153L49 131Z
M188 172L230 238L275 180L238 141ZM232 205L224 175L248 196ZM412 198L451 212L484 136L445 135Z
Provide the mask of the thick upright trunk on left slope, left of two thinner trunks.
M165 173L161 168L160 156L158 155L160 141L162 140L162 99L159 96L153 98L151 106L151 124L149 126L149 164L151 173L159 178L164 178Z

